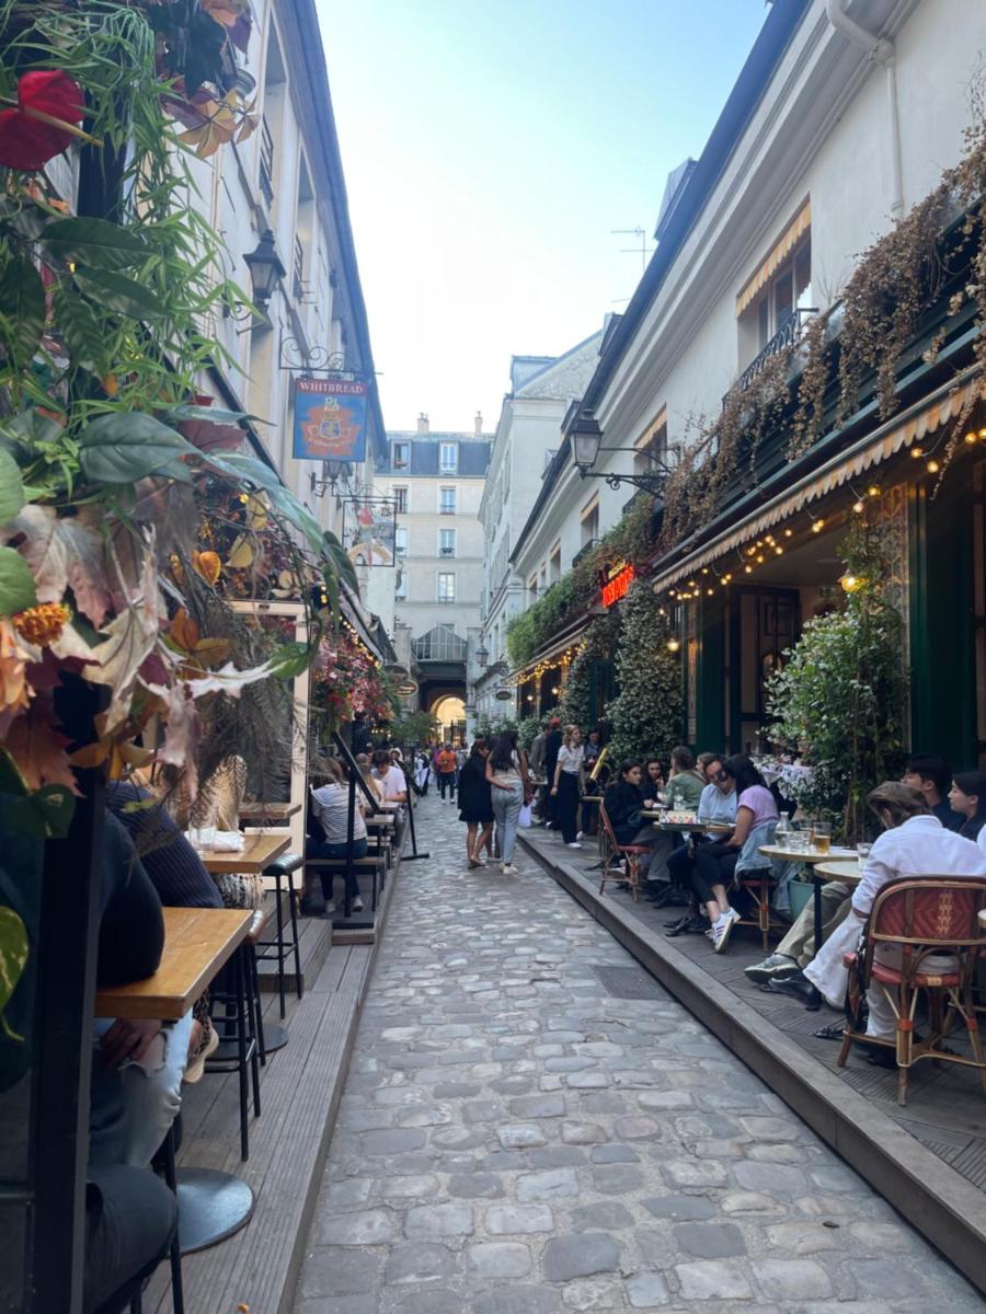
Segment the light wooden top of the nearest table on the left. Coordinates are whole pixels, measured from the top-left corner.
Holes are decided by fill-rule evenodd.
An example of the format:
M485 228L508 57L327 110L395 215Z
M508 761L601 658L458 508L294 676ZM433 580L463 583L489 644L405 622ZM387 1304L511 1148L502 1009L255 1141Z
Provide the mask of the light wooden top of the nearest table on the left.
M96 1017L177 1021L243 943L252 912L242 908L163 908L164 953L142 982L96 992Z

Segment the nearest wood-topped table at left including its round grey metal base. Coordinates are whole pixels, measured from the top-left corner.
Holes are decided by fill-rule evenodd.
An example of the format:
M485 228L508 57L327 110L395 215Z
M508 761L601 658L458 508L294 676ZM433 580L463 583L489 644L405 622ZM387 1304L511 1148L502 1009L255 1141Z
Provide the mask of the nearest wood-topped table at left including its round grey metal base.
M96 1017L184 1017L250 932L246 908L163 908L164 950L153 976L96 993ZM168 1133L171 1159L174 1141ZM254 1192L242 1177L216 1168L176 1173L177 1236L183 1255L205 1250L245 1227Z

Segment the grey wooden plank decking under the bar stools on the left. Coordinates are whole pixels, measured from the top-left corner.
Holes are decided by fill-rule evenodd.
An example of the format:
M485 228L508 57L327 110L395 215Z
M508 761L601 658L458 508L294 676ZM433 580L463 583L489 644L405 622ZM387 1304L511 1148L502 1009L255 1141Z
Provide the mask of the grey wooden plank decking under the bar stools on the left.
M331 924L301 920L305 995L288 995L289 1041L262 1068L262 1116L250 1123L250 1159L239 1158L238 1079L206 1075L184 1087L183 1166L221 1168L247 1181L255 1194L245 1229L210 1250L183 1259L188 1314L291 1314L325 1158L346 1084L359 1012L372 971L379 932L397 871L388 874L369 945L333 942ZM272 963L264 970L270 991ZM277 996L266 993L264 1017L277 1021ZM163 1264L145 1293L145 1314L171 1314L171 1284Z

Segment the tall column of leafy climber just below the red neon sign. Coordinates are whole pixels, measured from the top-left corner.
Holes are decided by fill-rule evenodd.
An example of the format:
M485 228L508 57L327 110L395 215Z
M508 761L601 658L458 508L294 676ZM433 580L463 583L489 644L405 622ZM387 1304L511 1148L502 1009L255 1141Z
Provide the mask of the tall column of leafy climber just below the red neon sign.
M652 753L667 758L684 729L681 658L667 649L670 624L646 579L630 586L622 622L619 694L606 710L613 723L610 752L617 762Z

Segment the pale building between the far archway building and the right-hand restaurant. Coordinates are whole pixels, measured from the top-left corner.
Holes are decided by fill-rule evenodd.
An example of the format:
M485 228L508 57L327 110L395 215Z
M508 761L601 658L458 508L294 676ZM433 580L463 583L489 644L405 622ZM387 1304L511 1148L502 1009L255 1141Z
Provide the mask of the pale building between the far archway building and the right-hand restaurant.
M518 573L511 558L561 444L561 420L585 392L601 342L602 332L597 332L561 356L510 360L510 392L501 406L479 511L484 540L480 639L486 657L485 666L471 673L471 696L480 715L494 716L498 711L496 691L507 662L511 618L561 573L561 558L551 549L530 578Z

